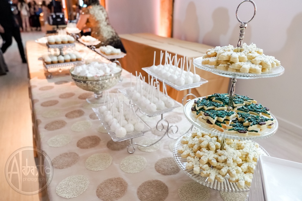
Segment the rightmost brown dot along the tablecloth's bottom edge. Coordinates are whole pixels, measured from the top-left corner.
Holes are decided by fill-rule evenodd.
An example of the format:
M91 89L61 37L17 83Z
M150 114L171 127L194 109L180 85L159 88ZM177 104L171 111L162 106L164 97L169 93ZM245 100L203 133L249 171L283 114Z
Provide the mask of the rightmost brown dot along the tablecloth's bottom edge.
M141 201L163 201L167 198L169 190L160 180L148 180L137 189L137 196Z

